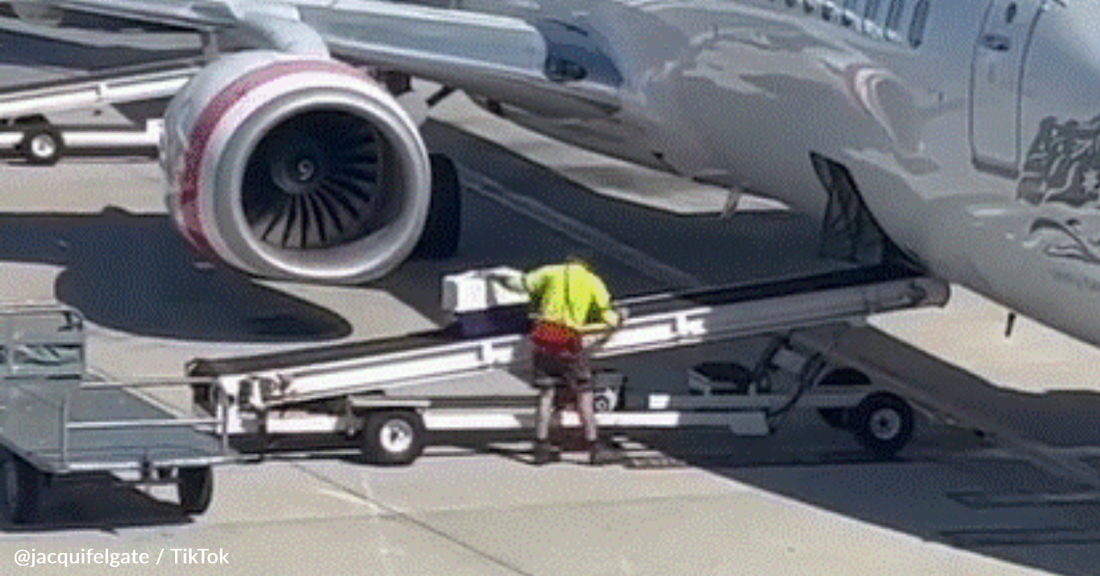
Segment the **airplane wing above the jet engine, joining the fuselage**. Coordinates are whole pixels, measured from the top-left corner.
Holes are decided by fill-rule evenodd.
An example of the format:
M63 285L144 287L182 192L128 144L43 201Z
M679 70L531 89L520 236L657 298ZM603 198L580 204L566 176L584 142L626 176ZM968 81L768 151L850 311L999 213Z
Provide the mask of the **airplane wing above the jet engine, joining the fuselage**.
M31 3L31 2L24 2ZM196 29L263 27L280 45L315 32L333 55L549 115L605 115L622 76L598 38L553 21L375 0L41 0L66 10ZM290 38L289 42L283 42ZM300 41L300 42L299 42Z

